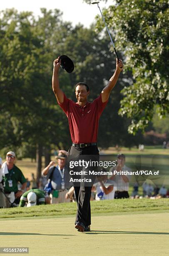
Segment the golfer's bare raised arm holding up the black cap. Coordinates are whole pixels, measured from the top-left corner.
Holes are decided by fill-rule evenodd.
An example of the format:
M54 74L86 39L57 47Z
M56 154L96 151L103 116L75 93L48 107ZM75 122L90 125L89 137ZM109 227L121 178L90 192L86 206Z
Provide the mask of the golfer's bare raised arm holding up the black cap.
M63 103L63 92L59 87L59 69L60 69L61 60L60 57L53 61L53 76L52 76L52 89L55 93L57 101Z

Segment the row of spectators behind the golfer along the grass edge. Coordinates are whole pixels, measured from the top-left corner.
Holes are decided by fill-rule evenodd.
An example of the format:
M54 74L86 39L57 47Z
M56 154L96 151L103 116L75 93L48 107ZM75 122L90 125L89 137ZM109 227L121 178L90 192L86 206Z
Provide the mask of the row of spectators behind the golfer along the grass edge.
M0 208L75 202L74 187L69 182L67 151L60 150L55 159L57 162L51 161L42 170L42 176L37 184L33 173L29 181L15 165L15 152L7 152L6 161L3 163L0 158ZM129 167L125 165L124 154L117 155L117 165L110 171L113 173L114 170L130 171ZM127 175L113 174L111 177L107 177L107 175L98 177L92 187L91 200L129 198L129 180L130 177ZM142 195L139 195L139 184L135 182L131 198L169 198L169 189L164 185L153 187L152 184L144 182L142 191Z

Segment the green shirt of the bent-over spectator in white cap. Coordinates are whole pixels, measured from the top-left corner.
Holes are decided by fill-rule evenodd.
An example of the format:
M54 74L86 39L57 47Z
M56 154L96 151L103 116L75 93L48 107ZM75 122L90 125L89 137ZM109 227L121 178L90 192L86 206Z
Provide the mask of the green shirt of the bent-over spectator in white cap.
M19 207L23 207L25 202L27 202L27 195L30 192L34 192L37 197L37 205L45 205L45 192L40 189L30 189L23 193L22 197L20 197L20 204Z

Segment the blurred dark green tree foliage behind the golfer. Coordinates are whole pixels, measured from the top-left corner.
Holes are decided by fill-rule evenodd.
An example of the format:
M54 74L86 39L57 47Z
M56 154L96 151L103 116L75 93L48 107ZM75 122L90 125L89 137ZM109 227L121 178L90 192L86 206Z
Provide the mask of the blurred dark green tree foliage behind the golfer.
M36 19L14 9L0 16L0 147L32 158L36 148L46 152L71 145L67 117L52 92L53 60L66 54L74 61L73 73L60 70L60 87L73 100L79 81L89 84L89 101L94 100L115 69L107 33L97 33L93 26L72 27L57 9L41 12ZM100 147L136 143L128 136L127 118L117 115L127 77L119 78L100 119Z

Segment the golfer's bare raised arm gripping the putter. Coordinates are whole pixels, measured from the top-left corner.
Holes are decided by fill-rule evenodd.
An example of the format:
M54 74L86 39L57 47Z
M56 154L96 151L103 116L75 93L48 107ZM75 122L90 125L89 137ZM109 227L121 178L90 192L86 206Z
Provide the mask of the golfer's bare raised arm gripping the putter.
M112 91L113 87L115 86L115 84L119 78L119 74L122 70L123 70L122 60L120 59L120 61L118 62L118 60L116 59L116 70L114 72L114 75L109 79L107 86L104 87L104 89L102 90L102 102L106 102L108 100L110 92Z

